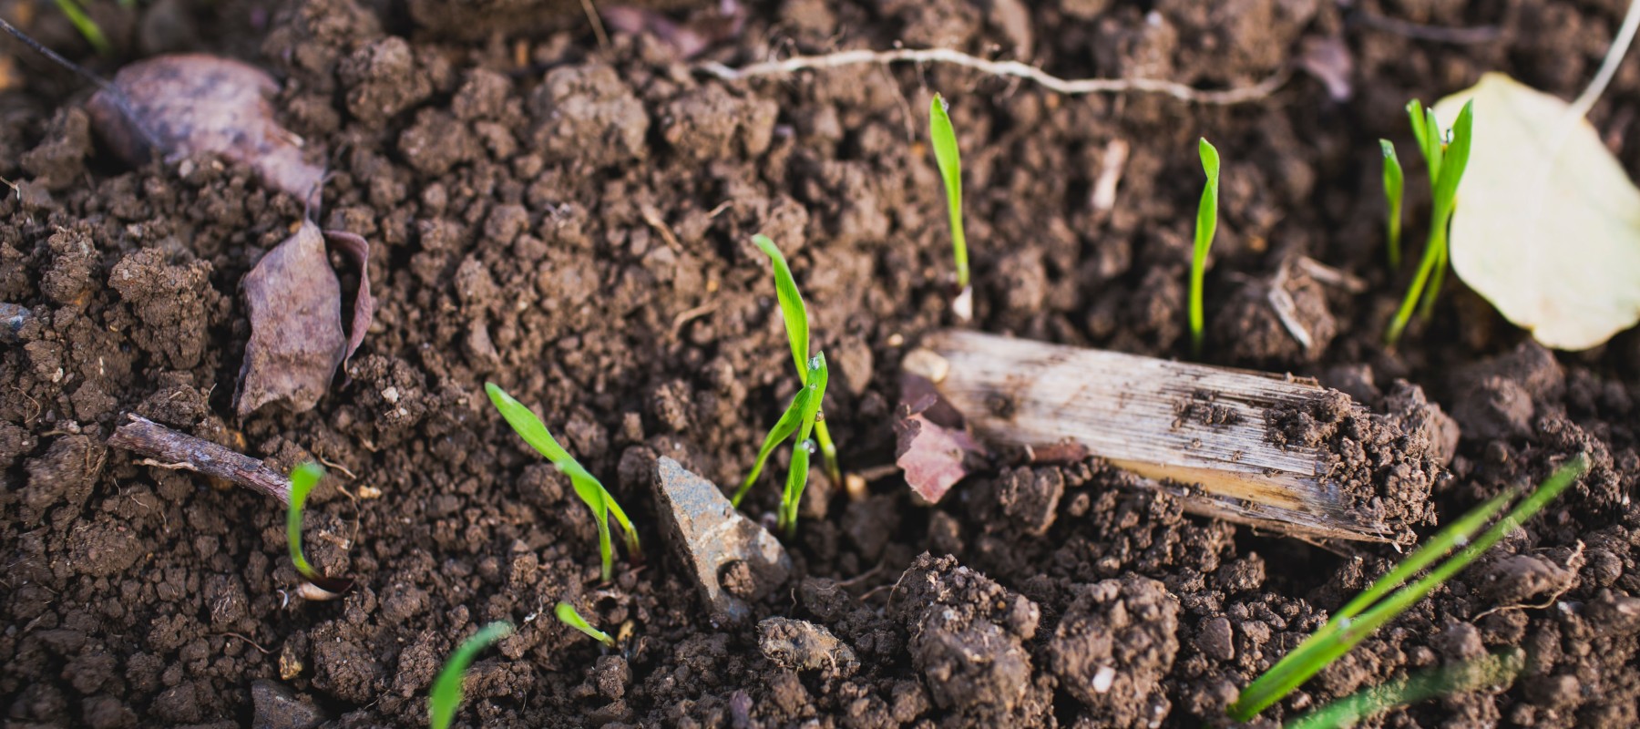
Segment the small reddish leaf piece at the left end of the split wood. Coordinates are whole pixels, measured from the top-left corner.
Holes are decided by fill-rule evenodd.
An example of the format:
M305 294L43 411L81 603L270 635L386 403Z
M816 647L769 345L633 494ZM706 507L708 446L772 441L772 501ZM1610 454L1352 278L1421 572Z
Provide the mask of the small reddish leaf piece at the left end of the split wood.
M930 502L938 502L951 491L969 468L968 455L986 455L963 422L963 415L941 399L927 379L907 374L902 396L910 404L900 404L894 420L894 463L905 471L905 483Z

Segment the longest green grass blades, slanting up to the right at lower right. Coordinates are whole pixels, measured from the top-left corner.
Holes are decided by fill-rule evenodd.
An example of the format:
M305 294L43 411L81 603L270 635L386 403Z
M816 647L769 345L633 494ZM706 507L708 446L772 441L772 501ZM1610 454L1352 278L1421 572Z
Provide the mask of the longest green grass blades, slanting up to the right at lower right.
M1335 616L1332 616L1332 619L1327 621L1320 630L1315 630L1315 634L1304 639L1297 649L1292 649L1291 653L1282 657L1274 667L1248 685L1241 691L1241 696L1230 704L1230 718L1235 721L1250 721L1269 704L1281 701L1282 696L1292 693L1292 690L1310 680L1310 676L1319 673L1328 663L1348 653L1374 630L1392 621L1401 612L1405 612L1407 608L1417 604L1435 588L1445 585L1446 580L1451 580L1453 575L1481 557L1481 553L1492 548L1492 545L1502 540L1509 532L1515 530L1520 522L1530 519L1543 509L1543 506L1560 496L1566 486L1571 486L1571 483L1576 481L1578 476L1588 470L1588 458L1581 455L1573 458L1565 466L1558 468L1547 481L1543 481L1542 486L1537 488L1537 491L1527 496L1506 517L1499 519L1497 524L1492 524L1491 529L1473 542L1469 539L1474 532L1491 520L1494 514L1502 511L1504 504L1515 496L1517 489L1494 496L1446 529L1437 532L1427 545L1412 552L1412 555L1396 565L1394 570L1389 570L1389 573L1378 578L1378 581L1368 586L1364 593L1358 594ZM1402 583L1410 580L1425 566L1430 566L1437 560L1446 557L1455 548L1460 548L1460 552L1450 560L1437 565L1419 581L1401 588ZM1394 591L1394 594L1391 594L1391 591Z

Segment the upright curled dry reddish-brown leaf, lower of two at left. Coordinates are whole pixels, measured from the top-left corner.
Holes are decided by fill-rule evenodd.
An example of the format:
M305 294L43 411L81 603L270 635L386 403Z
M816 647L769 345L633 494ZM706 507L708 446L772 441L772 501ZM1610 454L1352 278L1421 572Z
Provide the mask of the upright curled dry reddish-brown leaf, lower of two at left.
M244 274L239 289L251 319L239 368L239 417L269 402L295 412L312 409L349 351L341 332L341 282L318 225L302 220L295 235Z

